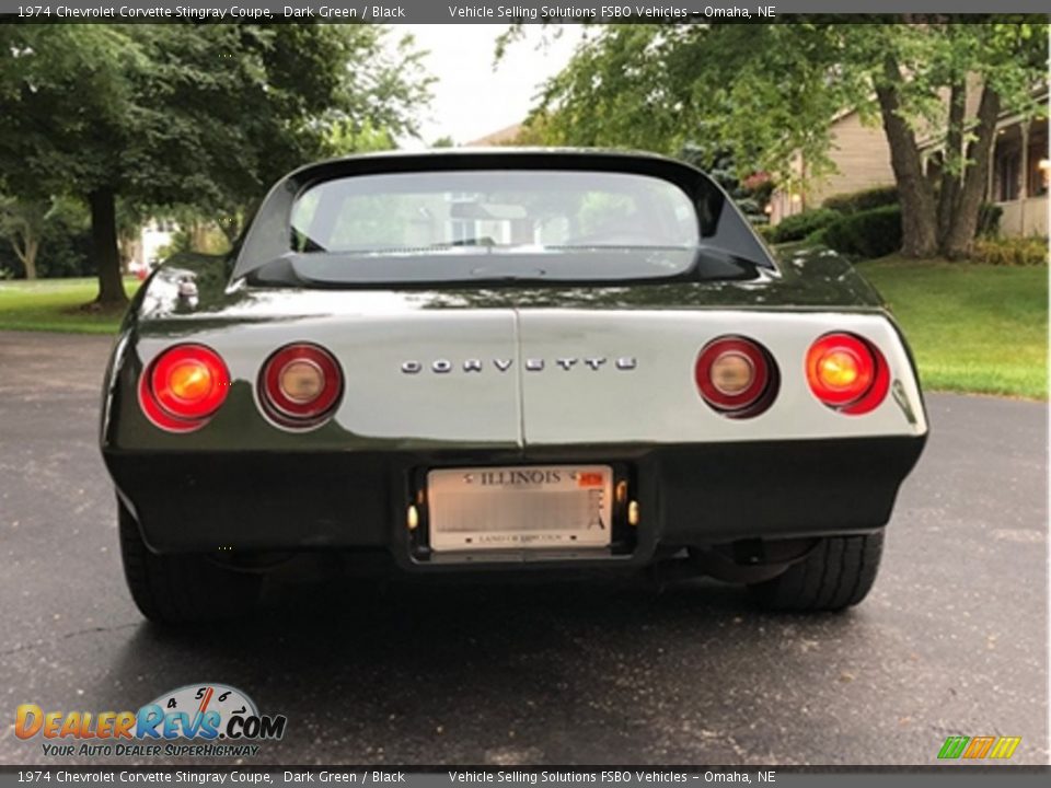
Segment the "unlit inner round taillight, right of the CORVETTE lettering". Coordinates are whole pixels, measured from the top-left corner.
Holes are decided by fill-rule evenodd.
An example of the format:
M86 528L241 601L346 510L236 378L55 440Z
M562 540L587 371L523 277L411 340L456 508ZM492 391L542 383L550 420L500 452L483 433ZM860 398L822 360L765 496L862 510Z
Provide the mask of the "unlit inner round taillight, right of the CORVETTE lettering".
M744 337L713 339L694 367L704 401L727 416L755 416L770 404L776 370L770 354Z

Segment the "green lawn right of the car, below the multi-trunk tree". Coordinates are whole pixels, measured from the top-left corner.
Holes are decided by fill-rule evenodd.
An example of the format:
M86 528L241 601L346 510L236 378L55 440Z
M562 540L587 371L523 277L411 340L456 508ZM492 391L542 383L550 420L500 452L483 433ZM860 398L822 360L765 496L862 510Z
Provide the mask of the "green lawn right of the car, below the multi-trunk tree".
M890 304L925 389L1047 399L1047 267L891 255L857 269Z

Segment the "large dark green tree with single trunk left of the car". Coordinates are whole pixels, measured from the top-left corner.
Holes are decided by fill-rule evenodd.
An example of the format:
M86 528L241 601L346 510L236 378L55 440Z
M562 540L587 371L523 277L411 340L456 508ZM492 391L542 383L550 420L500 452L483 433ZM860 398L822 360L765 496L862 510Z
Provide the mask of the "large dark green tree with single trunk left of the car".
M0 25L0 173L89 205L119 305L118 197L244 215L334 124L413 131L427 84L373 25Z

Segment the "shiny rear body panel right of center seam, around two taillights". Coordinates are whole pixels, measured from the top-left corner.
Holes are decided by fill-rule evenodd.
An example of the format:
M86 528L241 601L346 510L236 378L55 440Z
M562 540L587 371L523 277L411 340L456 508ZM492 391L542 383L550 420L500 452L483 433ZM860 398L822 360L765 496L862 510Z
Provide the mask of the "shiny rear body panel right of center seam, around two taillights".
M888 396L874 412L848 416L813 396L805 373L807 350L833 329L863 336L882 352L908 408ZM779 369L773 404L753 418L726 418L697 392L694 366L701 348L725 334L758 340ZM519 315L519 335L527 444L876 437L927 429L910 359L880 315L531 310ZM608 361L592 369L588 356ZM622 357L637 366L617 369ZM558 358L579 361L566 370L554 362ZM543 360L544 369L530 371L530 359Z

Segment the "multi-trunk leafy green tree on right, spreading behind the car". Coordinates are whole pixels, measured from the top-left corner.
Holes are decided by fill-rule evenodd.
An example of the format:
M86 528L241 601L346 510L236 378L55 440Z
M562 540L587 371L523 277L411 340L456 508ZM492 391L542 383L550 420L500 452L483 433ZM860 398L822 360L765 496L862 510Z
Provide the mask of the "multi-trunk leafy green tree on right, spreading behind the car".
M769 172L793 188L830 172L830 120L855 108L887 136L903 253L967 254L997 117L1040 112L1047 26L992 15L810 19L601 27L547 82L534 117L556 144L675 153L714 140L740 176ZM969 86L981 94L970 117ZM944 150L937 187L923 173L924 140Z

